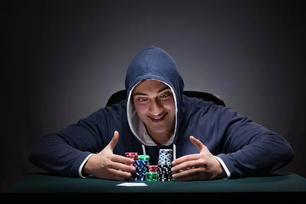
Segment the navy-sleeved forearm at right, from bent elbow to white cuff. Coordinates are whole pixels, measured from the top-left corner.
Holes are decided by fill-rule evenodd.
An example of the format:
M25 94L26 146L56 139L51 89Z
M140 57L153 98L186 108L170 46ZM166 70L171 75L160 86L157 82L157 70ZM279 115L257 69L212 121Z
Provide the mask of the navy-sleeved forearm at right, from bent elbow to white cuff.
M294 153L288 142L278 135L265 135L242 149L220 154L231 177L266 175L290 163Z

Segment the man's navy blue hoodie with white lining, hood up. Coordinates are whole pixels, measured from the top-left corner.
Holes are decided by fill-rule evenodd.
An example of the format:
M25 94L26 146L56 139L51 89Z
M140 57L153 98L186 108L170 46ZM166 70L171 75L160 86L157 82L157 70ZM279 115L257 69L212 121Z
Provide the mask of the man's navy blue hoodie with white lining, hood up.
M171 88L175 101L175 130L170 140L157 145L148 136L133 105L131 93L141 80L159 80ZM114 131L119 141L114 154L148 155L157 165L159 149L173 149L173 159L199 153L191 143L199 139L220 161L227 178L261 176L289 164L294 153L280 135L267 130L229 107L183 94L184 81L175 61L156 46L144 48L126 71L126 99L80 119L77 123L43 136L32 148L29 160L37 167L64 176L84 177L87 159L111 141Z

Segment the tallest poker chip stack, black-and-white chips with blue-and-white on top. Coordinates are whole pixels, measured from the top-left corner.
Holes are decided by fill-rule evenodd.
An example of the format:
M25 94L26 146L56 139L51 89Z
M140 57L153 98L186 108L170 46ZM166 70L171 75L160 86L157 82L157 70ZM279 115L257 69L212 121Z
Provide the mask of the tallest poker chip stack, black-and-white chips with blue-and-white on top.
M171 173L172 149L160 149L158 159L158 181L170 182L172 179Z

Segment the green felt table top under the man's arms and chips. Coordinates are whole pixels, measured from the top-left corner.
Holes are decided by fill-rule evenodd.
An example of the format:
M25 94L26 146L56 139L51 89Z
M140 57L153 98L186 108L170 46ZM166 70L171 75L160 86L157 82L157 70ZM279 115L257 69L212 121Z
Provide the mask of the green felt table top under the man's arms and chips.
M144 183L146 186L118 186L122 183ZM82 179L63 177L51 173L30 173L17 183L5 189L3 198L21 198L29 195L44 195L55 198L57 195L69 194L73 197L85 195L112 196L123 199L130 195L174 196L187 195L297 195L304 196L306 178L291 172L271 173L263 177L192 182L118 182L100 180L94 177ZM114 196L115 195L115 196ZM122 196L121 196L122 195Z

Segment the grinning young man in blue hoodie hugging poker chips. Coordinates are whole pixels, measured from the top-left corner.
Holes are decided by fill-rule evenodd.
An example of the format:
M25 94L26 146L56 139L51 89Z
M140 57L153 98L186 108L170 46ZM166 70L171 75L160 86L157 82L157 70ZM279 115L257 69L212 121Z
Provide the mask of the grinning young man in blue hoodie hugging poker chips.
M173 177L195 181L266 175L294 158L282 136L231 108L183 95L176 63L159 47L135 57L125 89L119 104L42 137L29 160L65 176L124 181L135 172L125 152L157 165L159 150L173 149Z

